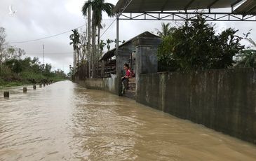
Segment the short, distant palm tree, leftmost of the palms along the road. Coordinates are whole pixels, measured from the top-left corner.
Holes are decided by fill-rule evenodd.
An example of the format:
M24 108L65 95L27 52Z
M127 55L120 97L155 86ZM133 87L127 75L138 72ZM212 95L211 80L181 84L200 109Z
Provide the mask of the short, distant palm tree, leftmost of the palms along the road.
M72 41L69 43L69 45L73 45L73 50L74 50L74 71L76 69L76 64L79 63L79 32L77 29L72 29L73 34L69 36L69 39ZM77 57L76 57L77 54ZM77 59L77 62L76 62Z

